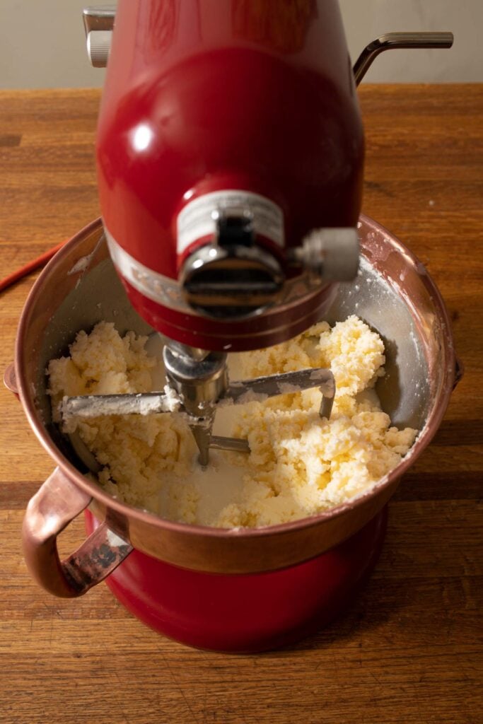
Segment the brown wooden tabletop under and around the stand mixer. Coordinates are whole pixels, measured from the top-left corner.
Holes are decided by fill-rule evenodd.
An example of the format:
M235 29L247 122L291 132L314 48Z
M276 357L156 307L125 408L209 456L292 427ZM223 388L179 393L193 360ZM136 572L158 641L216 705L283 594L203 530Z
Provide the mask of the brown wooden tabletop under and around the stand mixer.
M104 584L55 599L20 551L53 463L0 391L2 724L480 723L483 85L366 85L364 212L440 287L466 367L440 432L390 504L382 557L347 613L256 656L199 652L130 616ZM0 93L0 277L98 216L98 90ZM35 274L0 298L0 371ZM77 519L64 552L83 538Z

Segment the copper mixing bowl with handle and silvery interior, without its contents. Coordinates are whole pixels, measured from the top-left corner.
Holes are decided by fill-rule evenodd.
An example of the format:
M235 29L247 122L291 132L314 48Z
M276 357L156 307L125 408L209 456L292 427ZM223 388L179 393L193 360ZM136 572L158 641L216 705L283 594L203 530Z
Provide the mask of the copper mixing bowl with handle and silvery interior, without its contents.
M133 547L182 568L256 573L301 563L361 529L395 492L439 426L458 379L445 306L424 266L376 222L361 216L363 259L355 282L340 285L329 322L356 313L381 334L386 375L377 383L393 424L421 430L411 451L368 492L319 515L260 529L173 523L131 508L88 479L51 422L45 369L67 352L80 329L102 319L119 332L151 332L130 306L104 242L100 220L68 242L38 277L20 319L15 356L18 391L30 425L54 459L54 473L30 500L23 540L30 572L51 593L76 596L114 570ZM56 536L87 506L98 529L61 562Z

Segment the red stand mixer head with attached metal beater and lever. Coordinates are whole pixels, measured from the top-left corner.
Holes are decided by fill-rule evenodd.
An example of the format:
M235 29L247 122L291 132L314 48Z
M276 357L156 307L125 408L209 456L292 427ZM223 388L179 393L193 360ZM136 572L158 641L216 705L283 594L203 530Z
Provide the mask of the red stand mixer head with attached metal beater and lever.
M109 54L104 232L131 303L164 337L168 386L68 398L64 418L181 410L206 465L210 445L248 450L213 440L219 403L322 384L329 416L330 371L230 384L227 352L303 332L357 273L364 135L337 1L120 0L112 46L112 9L84 20L93 63ZM399 35L368 46L358 80L386 47L452 41Z

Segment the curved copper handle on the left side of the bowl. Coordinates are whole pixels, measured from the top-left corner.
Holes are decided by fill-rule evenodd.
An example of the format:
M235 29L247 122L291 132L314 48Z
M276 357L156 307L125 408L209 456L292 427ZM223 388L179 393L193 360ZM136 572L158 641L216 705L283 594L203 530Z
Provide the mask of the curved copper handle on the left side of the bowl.
M91 500L56 468L27 506L22 526L25 561L35 581L54 596L82 596L133 550L104 522L69 557L59 559L57 536Z

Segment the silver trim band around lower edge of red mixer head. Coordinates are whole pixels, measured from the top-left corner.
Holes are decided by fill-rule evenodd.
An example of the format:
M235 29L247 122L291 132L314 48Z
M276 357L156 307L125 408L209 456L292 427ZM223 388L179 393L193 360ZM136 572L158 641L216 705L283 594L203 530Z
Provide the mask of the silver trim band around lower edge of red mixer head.
M114 266L132 287L148 299L168 309L189 313L191 316L203 316L188 304L182 285L177 279L165 277L164 274L159 274L159 271L154 271L141 264L119 245L105 226L104 232ZM267 311L270 313L282 311L295 303L308 300L323 286L320 281L314 280L308 271L293 279L287 279L280 292L279 302L269 307Z

